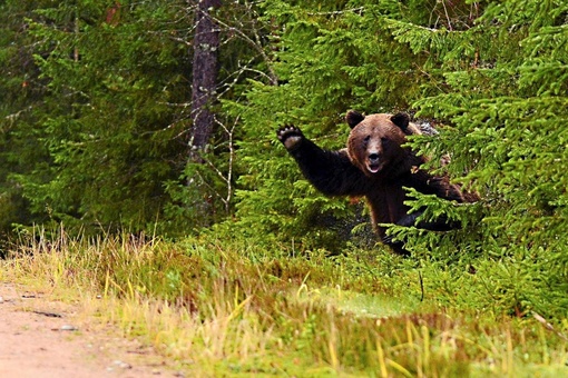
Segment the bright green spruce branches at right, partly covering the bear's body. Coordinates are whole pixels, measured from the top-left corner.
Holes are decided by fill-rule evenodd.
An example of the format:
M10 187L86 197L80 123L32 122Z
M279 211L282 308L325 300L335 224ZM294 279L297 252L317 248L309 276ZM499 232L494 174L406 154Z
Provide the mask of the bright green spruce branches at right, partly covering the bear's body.
M568 161L562 128L567 11L558 1L505 1L487 4L464 31L391 24L413 51L437 56L423 70L438 79L422 87L424 94L414 106L420 116L449 127L435 140L418 139L415 146L433 162L449 153L452 162L444 169L482 195L482 212L459 217L480 222L480 232L456 240L456 248L463 253L477 245L496 261L498 269L486 260L474 263L490 268L479 275L500 277L502 298L511 296L511 306L558 315L566 311L559 298L568 279L568 176L562 166ZM428 205L419 198L415 206ZM434 213L443 209L433 208ZM443 256L447 237L413 240L418 250ZM438 242L442 248L432 249Z

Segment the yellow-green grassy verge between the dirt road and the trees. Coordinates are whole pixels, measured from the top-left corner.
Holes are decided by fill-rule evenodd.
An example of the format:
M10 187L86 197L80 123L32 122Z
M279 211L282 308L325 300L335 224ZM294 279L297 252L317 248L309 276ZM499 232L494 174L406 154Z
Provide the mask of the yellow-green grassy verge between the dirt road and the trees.
M381 251L294 256L210 236L33 240L14 246L1 280L74 297L188 376L568 374L567 320L547 326L476 301L476 275Z

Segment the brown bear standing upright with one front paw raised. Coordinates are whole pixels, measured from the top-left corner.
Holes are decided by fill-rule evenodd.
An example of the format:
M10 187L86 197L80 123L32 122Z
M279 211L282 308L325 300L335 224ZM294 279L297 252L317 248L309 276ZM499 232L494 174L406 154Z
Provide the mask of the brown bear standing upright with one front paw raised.
M339 151L323 150L294 126L285 126L277 131L280 141L317 190L326 196L365 197L373 228L383 242L401 255L408 253L403 245L388 238L381 223L440 231L459 227L444 219L417 223L421 211L408 213L403 187L457 202L472 202L477 197L463 192L447 177L432 176L419 168L425 158L403 147L407 136L421 133L407 113L365 117L351 110L345 119L351 133L347 147Z

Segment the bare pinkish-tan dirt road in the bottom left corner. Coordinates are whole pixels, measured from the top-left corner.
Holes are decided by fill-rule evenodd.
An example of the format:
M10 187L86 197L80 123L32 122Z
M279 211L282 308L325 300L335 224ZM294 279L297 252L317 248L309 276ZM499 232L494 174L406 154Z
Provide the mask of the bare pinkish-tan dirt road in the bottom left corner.
M0 377L174 377L136 341L90 327L76 308L0 282Z

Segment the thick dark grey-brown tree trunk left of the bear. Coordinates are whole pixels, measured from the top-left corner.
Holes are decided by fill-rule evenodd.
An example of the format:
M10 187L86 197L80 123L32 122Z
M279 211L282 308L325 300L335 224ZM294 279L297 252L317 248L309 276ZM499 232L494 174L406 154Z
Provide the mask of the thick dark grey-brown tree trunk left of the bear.
M216 100L219 28L209 12L221 0L198 0L195 12L194 61L192 84L192 120L189 156L198 161L199 150L207 146L214 125L210 106Z

